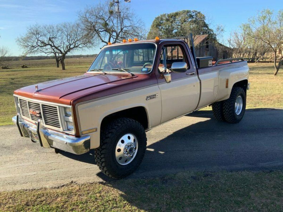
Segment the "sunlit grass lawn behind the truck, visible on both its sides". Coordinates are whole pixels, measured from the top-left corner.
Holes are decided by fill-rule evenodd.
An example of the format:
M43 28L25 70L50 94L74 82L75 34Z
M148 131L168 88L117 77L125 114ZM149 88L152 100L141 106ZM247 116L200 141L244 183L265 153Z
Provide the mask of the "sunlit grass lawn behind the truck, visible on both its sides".
M65 71L55 66L0 69L0 125L12 124L11 117L15 115L13 91L27 85L75 76L84 73L92 59L84 58L85 64L67 65ZM86 60L89 62L86 62ZM74 61L75 59L70 59ZM40 61L38 60L39 64ZM18 61L14 61L18 62ZM36 60L33 60L36 63ZM248 64L250 67L251 89L248 91L247 108L283 108L283 69L274 76L274 68L270 63ZM211 107L206 107L211 110Z

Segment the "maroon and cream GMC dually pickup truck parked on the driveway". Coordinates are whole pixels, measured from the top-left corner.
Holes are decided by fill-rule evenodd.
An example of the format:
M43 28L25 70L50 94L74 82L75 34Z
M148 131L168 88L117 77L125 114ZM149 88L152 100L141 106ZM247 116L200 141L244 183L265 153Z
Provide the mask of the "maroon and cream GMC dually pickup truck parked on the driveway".
M100 170L123 178L143 160L146 131L208 105L219 121L243 118L247 62L194 55L180 39L108 43L85 74L15 90L12 120L55 153L94 149Z

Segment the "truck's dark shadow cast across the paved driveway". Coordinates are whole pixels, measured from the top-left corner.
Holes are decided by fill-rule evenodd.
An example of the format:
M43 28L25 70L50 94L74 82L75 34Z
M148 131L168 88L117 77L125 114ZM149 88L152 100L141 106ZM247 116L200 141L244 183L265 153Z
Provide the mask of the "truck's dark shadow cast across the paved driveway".
M185 126L192 118L194 123ZM180 171L282 169L282 120L282 109L246 110L239 124L218 122L211 111L189 114L182 120L169 122L147 133L144 160L128 178L154 177ZM158 139L159 136L162 139ZM84 155L61 154L95 164L93 150ZM111 181L101 172L97 176Z

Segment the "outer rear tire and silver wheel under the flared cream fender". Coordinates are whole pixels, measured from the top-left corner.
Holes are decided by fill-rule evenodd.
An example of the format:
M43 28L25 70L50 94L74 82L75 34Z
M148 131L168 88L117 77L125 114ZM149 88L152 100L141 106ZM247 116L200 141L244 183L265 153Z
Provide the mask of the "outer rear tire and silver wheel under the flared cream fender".
M223 115L226 122L239 123L246 111L246 93L243 88L233 87L230 98L223 102Z

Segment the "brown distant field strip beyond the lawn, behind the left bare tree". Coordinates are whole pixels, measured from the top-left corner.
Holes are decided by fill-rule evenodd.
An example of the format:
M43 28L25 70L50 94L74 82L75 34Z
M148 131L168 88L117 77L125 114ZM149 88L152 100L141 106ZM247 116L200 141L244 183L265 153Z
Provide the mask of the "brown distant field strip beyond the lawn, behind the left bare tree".
M81 58L68 58L65 59L66 66L80 66L80 65L90 65L95 57L81 57ZM33 67L52 67L56 65L55 59L46 60L19 60L19 61L6 61L5 65L10 68L21 68L21 65L27 65L30 68ZM61 66L61 64L60 64Z

